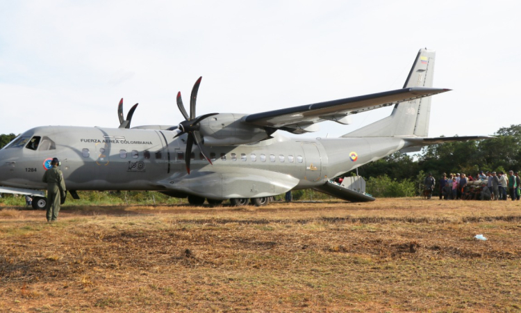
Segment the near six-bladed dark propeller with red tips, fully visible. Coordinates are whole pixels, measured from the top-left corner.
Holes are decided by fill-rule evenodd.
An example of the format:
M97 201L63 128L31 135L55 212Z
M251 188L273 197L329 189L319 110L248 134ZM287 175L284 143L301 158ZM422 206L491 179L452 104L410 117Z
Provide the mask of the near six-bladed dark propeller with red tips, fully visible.
M188 174L190 174L190 156L192 155L192 145L194 143L199 147L199 150L201 150L201 154L203 154L203 157L210 162L210 164L213 165L212 161L208 157L208 152L206 151L203 140L201 138L201 134L199 132L199 129L201 128L201 125L199 124L201 120L204 120L205 118L208 118L212 115L217 115L219 113L208 113L205 115L198 116L196 118L195 115L195 103L197 101L197 91L199 90L199 85L201 84L201 79L203 77L199 77L197 81L194 84L194 87L192 88L192 95L190 95L190 115L185 110L185 106L183 106L183 99L181 99L181 92L177 93L177 107L179 108L179 111L181 111L181 114L183 114L183 117L185 120L183 122L179 123L179 132L174 136L174 138L179 137L183 134L188 134L188 139L186 141L186 152L185 152L185 163L186 163L186 171Z

